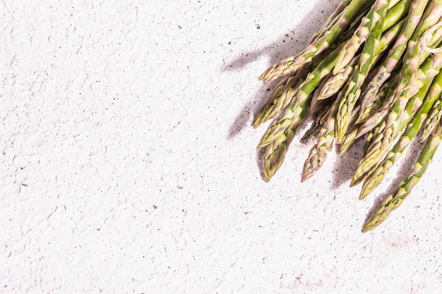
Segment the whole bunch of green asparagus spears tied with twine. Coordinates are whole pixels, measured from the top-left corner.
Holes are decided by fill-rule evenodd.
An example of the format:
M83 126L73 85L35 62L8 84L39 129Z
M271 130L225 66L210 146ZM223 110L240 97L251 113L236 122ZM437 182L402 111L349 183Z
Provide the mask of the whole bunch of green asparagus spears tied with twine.
M253 122L275 118L259 142L263 176L280 168L299 125L316 140L301 181L365 140L350 185L369 195L417 138L424 147L409 176L369 216L369 231L397 209L419 182L442 140L442 0L343 0L307 47L259 78L281 78ZM419 133L420 131L420 133Z

